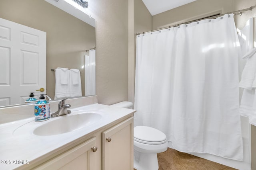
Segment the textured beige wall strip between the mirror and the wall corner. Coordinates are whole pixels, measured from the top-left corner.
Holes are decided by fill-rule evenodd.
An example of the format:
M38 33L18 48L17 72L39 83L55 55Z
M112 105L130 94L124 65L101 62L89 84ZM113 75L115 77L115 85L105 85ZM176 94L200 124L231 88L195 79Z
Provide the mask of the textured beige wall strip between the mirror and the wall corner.
M96 94L100 104L128 100L128 0L89 1L96 19Z

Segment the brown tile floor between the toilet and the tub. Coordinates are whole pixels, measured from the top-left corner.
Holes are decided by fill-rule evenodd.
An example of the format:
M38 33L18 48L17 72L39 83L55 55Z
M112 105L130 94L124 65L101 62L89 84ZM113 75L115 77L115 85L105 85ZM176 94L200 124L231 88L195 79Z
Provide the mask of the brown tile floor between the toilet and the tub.
M236 170L234 168L170 148L165 152L157 154L157 157L159 170Z

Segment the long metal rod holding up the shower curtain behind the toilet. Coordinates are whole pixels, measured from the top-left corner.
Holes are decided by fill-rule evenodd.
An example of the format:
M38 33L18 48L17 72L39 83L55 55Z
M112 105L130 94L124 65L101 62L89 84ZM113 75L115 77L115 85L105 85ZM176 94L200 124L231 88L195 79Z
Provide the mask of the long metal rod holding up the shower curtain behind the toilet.
M234 11L234 12L228 12L228 13L226 13L226 14L234 14L234 15L240 14L240 16L241 16L241 15L242 15L242 12L251 11L254 7L255 7L255 6L251 6L250 8L246 8L246 9L242 9L242 10L238 10L238 11ZM171 27L177 27L177 26L179 26L179 25L188 24L188 23L192 23L192 22L195 22L195 21L201 21L201 20L205 20L205 19L215 19L215 18L218 18L218 17L220 17L220 16L224 16L224 15L225 15L225 14L217 14L217 15L214 15L214 16L209 16L209 17L204 17L204 18L197 19L197 20L187 21L187 22L175 24L175 25L172 25L172 26L168 26L168 27L163 27L163 28L155 29L155 30L152 30L152 31L147 31L147 32L142 32L142 33L136 33L136 35L140 35L140 34L144 34L144 33L150 33L150 32L154 32L154 31L160 31L160 30L162 30L162 29L167 29L167 28L171 28Z

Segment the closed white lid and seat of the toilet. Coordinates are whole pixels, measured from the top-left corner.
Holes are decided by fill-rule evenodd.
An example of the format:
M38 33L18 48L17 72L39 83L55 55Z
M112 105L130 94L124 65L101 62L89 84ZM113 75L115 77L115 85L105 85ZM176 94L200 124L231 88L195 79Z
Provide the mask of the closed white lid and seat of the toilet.
M156 145L165 143L166 140L166 135L153 127L134 127L134 141Z

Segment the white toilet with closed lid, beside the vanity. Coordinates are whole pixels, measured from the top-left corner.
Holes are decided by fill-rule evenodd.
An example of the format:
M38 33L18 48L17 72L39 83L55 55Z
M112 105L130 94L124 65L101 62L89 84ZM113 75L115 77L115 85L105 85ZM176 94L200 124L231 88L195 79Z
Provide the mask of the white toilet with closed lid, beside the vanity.
M132 102L120 102L111 106L132 109ZM136 114L136 113L135 113ZM166 135L148 127L134 127L134 168L137 170L158 170L157 153L168 148Z

